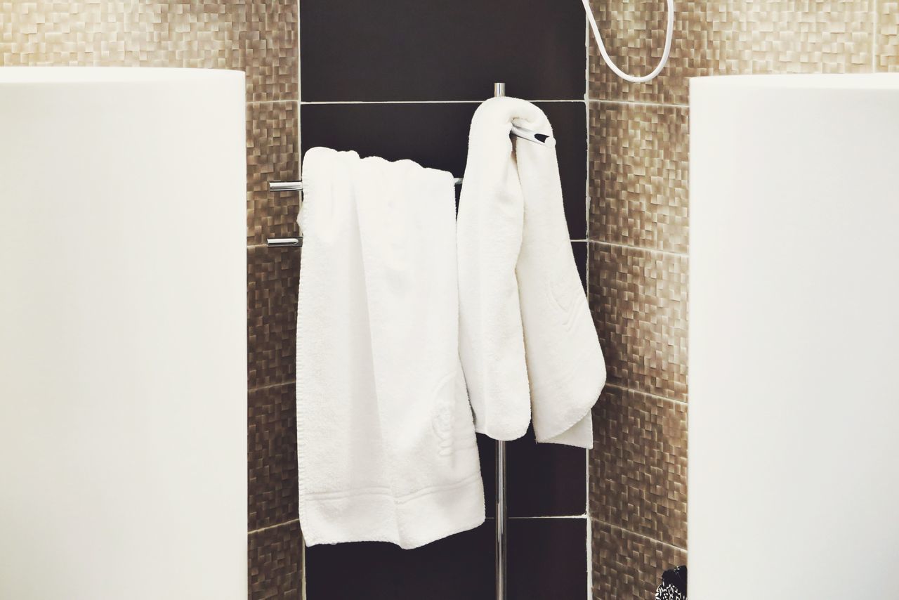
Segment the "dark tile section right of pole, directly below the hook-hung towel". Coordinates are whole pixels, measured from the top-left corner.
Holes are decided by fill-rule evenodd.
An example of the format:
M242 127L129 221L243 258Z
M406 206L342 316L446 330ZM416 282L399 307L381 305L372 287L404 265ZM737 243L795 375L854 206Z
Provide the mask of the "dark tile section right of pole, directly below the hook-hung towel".
M524 437L507 442L509 515L583 515L587 503L586 461L583 448L537 443L530 427Z

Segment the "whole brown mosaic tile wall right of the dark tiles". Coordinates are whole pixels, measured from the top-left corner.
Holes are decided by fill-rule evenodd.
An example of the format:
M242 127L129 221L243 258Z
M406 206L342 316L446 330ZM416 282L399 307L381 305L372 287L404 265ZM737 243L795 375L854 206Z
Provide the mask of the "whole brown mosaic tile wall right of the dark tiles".
M593 0L619 66L654 67L663 0ZM682 0L672 55L646 85L591 40L589 291L609 366L590 457L592 595L651 598L685 564L688 78L899 71L895 0Z

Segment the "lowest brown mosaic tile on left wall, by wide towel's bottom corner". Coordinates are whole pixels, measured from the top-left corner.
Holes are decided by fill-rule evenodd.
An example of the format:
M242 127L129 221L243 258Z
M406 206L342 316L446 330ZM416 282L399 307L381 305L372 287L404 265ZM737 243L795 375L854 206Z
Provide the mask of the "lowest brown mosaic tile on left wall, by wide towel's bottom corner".
M303 594L303 538L294 521L250 533L250 600L299 600Z

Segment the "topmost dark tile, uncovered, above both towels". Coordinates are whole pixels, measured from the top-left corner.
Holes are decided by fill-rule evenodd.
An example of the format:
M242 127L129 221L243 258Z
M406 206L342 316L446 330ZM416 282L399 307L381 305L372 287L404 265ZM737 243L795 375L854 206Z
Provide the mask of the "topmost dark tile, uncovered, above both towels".
M305 101L583 98L585 19L557 0L300 4Z

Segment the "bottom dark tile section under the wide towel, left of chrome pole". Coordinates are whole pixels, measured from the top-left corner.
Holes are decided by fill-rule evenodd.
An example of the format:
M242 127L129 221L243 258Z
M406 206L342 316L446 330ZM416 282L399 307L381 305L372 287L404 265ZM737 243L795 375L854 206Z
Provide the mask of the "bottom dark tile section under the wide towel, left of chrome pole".
M313 546L306 571L307 600L494 600L494 522L415 550L383 542Z

